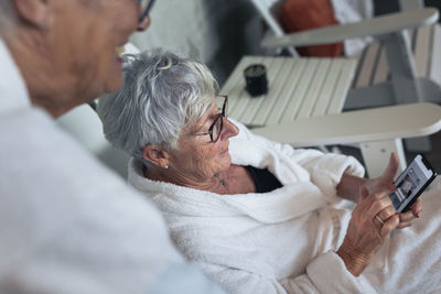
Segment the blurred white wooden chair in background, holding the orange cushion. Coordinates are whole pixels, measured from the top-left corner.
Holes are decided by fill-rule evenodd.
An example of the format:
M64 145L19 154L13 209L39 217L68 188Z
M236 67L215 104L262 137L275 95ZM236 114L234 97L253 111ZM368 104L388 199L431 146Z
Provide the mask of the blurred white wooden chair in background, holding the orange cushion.
M439 54L427 54L441 48L441 31L438 25L420 29L419 36L430 46L417 46L419 66L416 67L407 30L433 24L438 20L434 9L413 9L378 17L358 23L333 25L286 34L280 25L280 0L252 0L265 22L273 32L261 45L266 48L288 47L295 54L295 46L336 43L347 39L375 36L378 42L362 54L353 88L347 95L344 109L361 109L405 102L441 102L441 90L434 80L441 81ZM432 42L423 35L433 36ZM439 37L438 37L439 35ZM421 41L422 40L422 41ZM373 53L375 55L373 56ZM295 56L295 55L294 55ZM429 56L424 61L424 57ZM433 56L432 58L430 58ZM424 64L424 65L422 65ZM430 69L428 66L433 65ZM420 69L420 77L417 75ZM390 80L389 80L390 76Z

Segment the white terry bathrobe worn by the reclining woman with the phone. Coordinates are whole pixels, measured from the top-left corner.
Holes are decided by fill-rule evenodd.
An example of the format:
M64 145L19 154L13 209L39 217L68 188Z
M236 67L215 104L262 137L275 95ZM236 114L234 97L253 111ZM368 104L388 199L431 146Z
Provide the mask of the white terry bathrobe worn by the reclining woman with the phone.
M434 270L426 261L418 262L420 268L426 272L433 270L431 279L438 280L423 281L426 274L420 272L418 282L423 285L409 283L406 277L415 272L413 263L409 266L411 257L390 251L391 248L397 252L409 247L418 249L426 242L412 229L396 235L392 238L396 242L388 240L377 253L380 258L365 274L354 277L335 254L343 242L353 205L338 198L335 187L345 171L363 175L362 165L351 156L294 150L236 124L240 132L230 139L233 163L268 167L283 187L265 194L218 195L149 181L142 176L141 162L132 159L129 164L129 182L157 203L175 244L211 277L229 292L240 294L390 293L397 288L427 292L439 284L441 269ZM430 209L424 207L422 216L428 215L426 210ZM438 224L439 217L432 230ZM431 238L430 244L435 243L441 233ZM385 258L388 254L390 260ZM426 252L418 250L415 254L424 257ZM430 254L430 262L437 262L440 268L441 250L432 250ZM401 264L406 268L401 269Z

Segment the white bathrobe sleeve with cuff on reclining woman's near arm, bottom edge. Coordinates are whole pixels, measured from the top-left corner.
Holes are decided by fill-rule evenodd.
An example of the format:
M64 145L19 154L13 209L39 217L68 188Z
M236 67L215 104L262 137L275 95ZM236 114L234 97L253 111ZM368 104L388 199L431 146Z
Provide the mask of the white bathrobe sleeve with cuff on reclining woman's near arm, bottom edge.
M363 275L352 275L342 259L331 251L313 260L306 266L306 273L281 281L216 264L202 266L228 293L377 293Z

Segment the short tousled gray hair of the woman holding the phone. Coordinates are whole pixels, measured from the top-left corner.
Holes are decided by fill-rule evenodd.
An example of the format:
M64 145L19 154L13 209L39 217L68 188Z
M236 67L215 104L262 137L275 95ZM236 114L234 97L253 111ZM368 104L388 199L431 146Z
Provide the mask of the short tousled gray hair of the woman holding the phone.
M148 144L178 149L182 130L209 109L217 81L202 63L168 52L123 58L122 87L98 101L106 139L138 159Z

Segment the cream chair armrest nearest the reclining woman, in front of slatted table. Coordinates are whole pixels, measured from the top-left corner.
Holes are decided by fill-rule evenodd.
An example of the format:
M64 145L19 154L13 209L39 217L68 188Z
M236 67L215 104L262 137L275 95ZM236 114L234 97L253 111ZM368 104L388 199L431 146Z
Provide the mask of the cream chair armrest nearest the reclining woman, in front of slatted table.
M408 104L299 119L252 132L302 148L422 137L440 129L440 106Z

